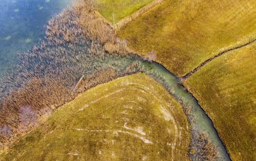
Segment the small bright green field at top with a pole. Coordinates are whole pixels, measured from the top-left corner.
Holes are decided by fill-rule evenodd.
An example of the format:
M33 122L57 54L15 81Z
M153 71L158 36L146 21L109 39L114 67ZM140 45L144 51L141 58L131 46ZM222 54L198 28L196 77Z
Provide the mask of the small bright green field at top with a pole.
M113 14L115 14L115 23L133 14L138 9L151 3L153 0L96 0L94 6L105 19L113 23Z

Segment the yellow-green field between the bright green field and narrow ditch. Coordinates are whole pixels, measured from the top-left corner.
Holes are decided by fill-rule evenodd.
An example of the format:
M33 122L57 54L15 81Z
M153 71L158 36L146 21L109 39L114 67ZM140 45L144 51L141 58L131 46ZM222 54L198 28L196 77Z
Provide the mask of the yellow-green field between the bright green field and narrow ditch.
M254 0L166 0L118 32L140 55L153 50L157 62L178 76L208 58L255 38Z

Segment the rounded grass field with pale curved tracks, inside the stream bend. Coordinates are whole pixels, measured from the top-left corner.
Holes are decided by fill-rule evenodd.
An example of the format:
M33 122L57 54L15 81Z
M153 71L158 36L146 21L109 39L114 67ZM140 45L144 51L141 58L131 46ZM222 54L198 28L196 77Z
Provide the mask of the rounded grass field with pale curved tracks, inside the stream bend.
M155 80L136 74L80 94L0 158L189 160L189 142L180 104Z

